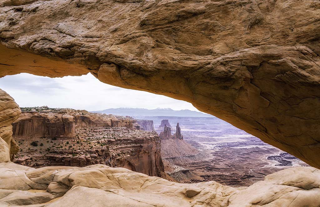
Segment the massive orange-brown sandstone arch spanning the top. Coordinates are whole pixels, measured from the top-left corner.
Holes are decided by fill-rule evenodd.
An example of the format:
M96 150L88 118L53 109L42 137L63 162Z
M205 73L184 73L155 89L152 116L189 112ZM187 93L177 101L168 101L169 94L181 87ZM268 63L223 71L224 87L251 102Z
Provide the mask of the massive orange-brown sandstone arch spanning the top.
M0 76L91 72L188 101L320 168L319 1L0 3Z

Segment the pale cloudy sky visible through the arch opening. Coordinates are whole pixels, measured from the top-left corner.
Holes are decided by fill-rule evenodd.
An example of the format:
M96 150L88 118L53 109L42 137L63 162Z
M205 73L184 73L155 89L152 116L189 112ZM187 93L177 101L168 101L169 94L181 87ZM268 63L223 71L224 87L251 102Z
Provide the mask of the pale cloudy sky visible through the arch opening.
M0 88L11 95L20 107L48 106L88 111L120 107L198 111L185 101L102 83L90 73L63 78L21 73L0 78Z

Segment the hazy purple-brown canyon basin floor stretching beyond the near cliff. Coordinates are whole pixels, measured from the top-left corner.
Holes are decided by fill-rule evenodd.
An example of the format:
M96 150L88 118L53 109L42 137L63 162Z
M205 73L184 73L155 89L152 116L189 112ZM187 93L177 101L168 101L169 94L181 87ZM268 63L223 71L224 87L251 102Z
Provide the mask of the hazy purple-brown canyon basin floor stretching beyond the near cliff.
M214 180L227 186L250 186L279 170L308 166L215 117L142 118L156 125L162 125L163 120L180 124L181 128L176 129L183 134L183 140L171 135L177 130L156 130L161 138L164 171L180 183Z

